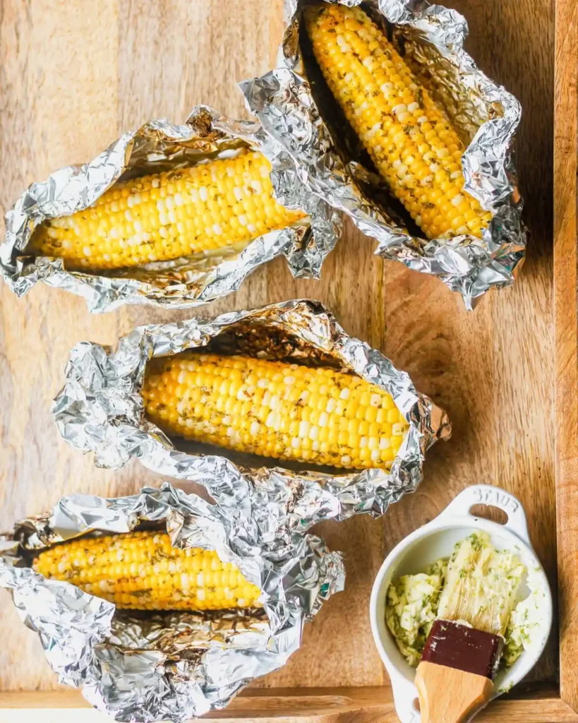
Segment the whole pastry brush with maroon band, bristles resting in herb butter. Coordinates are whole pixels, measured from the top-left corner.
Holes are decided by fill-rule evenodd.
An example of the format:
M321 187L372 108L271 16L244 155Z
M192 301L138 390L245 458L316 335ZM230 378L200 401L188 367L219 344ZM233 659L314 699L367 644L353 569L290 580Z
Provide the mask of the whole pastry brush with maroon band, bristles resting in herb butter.
M524 571L486 533L457 544L415 675L422 723L462 723L488 703Z

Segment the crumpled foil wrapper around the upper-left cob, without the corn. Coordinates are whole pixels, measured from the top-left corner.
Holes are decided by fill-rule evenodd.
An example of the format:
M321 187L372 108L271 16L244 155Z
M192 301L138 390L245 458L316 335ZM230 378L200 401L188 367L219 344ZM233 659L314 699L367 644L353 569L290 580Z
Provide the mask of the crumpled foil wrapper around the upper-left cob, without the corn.
M277 199L287 208L309 214L280 231L258 236L244 248L191 254L173 261L152 262L108 272L66 271L63 260L27 255L33 230L92 205L118 180L183 168L226 157L240 147L260 150L272 164ZM241 286L259 265L284 255L296 277L318 278L322 262L341 231L339 214L298 180L282 145L256 122L238 121L213 108L195 106L184 125L166 119L127 132L84 166L69 166L33 183L6 214L6 236L0 245L0 275L18 296L38 281L84 296L92 312L122 304L154 304L184 308L219 299Z

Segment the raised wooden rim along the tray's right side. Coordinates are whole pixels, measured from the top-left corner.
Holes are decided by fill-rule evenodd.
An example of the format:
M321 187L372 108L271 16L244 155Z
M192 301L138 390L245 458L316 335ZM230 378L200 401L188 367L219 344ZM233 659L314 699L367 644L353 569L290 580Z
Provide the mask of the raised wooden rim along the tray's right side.
M578 5L556 4L554 279L560 692L578 710Z

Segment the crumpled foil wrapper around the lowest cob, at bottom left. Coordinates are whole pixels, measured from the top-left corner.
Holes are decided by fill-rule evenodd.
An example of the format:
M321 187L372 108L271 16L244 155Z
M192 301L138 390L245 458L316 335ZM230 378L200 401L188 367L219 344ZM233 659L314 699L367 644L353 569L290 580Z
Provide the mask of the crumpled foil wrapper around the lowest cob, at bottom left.
M122 533L155 523L175 547L215 549L262 590L263 608L212 612L135 612L48 580L34 554L92 531ZM316 536L288 529L272 500L227 510L165 483L139 495L63 497L51 513L29 518L0 538L0 586L29 628L38 631L60 683L118 721L184 721L230 699L281 667L301 643L303 623L343 589L338 552Z

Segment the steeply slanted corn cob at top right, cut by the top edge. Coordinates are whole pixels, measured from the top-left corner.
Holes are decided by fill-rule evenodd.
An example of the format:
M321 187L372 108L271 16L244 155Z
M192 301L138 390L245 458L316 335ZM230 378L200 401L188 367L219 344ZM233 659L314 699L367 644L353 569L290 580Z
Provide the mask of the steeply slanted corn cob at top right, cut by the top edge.
M481 237L491 214L464 190L464 147L384 33L359 7L306 7L329 89L379 173L428 238Z

